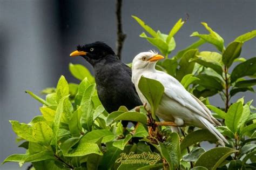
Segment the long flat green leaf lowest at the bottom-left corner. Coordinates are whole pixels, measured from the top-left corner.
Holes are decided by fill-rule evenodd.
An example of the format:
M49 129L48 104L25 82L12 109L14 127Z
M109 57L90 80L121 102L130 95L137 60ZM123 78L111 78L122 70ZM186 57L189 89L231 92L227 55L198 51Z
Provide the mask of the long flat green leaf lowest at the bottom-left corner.
M13 154L7 157L5 162L19 162L19 166L22 166L24 162L37 162L42 160L54 159L52 151L42 151L35 154Z

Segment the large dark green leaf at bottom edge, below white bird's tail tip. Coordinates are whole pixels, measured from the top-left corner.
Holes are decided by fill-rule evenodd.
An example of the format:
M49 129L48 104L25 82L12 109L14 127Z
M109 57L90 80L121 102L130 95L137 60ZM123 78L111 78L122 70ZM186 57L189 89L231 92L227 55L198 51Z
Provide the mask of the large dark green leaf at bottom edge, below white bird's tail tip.
M216 169L229 155L235 152L238 151L228 147L212 148L199 157L195 166L203 166L208 169Z

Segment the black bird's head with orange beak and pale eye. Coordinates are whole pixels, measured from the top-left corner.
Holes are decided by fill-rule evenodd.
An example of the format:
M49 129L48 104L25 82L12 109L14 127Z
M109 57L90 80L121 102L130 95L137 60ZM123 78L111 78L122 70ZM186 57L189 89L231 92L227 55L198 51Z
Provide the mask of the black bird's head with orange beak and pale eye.
M109 45L103 42L78 45L77 50L70 54L72 57L82 56L91 64L95 63L96 60L100 60L108 55L115 56L115 53Z

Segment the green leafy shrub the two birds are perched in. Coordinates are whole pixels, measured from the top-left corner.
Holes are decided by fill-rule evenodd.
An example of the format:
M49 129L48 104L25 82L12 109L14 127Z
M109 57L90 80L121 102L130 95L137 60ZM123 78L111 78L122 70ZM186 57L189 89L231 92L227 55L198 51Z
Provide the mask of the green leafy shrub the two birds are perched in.
M176 46L173 36L185 22L180 19L169 35L164 35L138 17L133 18L152 36L142 33L140 37L166 56L163 62L158 62L157 69L176 77L214 112L213 116L222 123L218 130L229 144L218 147L213 134L194 127L182 127L181 135L171 132L168 126L158 126L159 132L154 135L148 117L151 112L154 117L164 91L156 80L139 81L140 90L150 101L150 111L143 106L139 111L121 106L118 111L107 113L90 72L82 65L70 64L72 75L81 80L79 84L68 83L61 76L56 88L42 91L45 99L26 91L42 103L39 109L42 115L28 124L10 121L22 142L19 147L26 152L10 155L3 163L12 161L23 166L32 162L35 169L255 169L255 107L252 101L245 103L244 98L231 105L229 101L238 92L253 91L256 60L239 57L242 45L255 37L256 31L239 36L225 48L223 38L202 23L209 34L192 33L199 40L168 58ZM218 52L199 51L197 48L204 43L213 44ZM235 62L239 64L229 72ZM215 94L223 97L225 108L209 103L208 97ZM122 120L138 124L123 128ZM216 147L205 151L200 146L202 141L214 143Z

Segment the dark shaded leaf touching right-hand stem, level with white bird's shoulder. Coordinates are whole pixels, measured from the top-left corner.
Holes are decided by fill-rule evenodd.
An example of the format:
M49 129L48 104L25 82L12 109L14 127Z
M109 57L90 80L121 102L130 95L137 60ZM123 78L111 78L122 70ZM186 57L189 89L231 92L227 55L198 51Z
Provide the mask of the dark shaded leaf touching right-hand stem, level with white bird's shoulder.
M199 84L201 86L204 86L206 89L215 89L218 91L223 90L221 80L218 77L200 74L197 76L197 78L199 78L199 80L194 81L193 84Z

